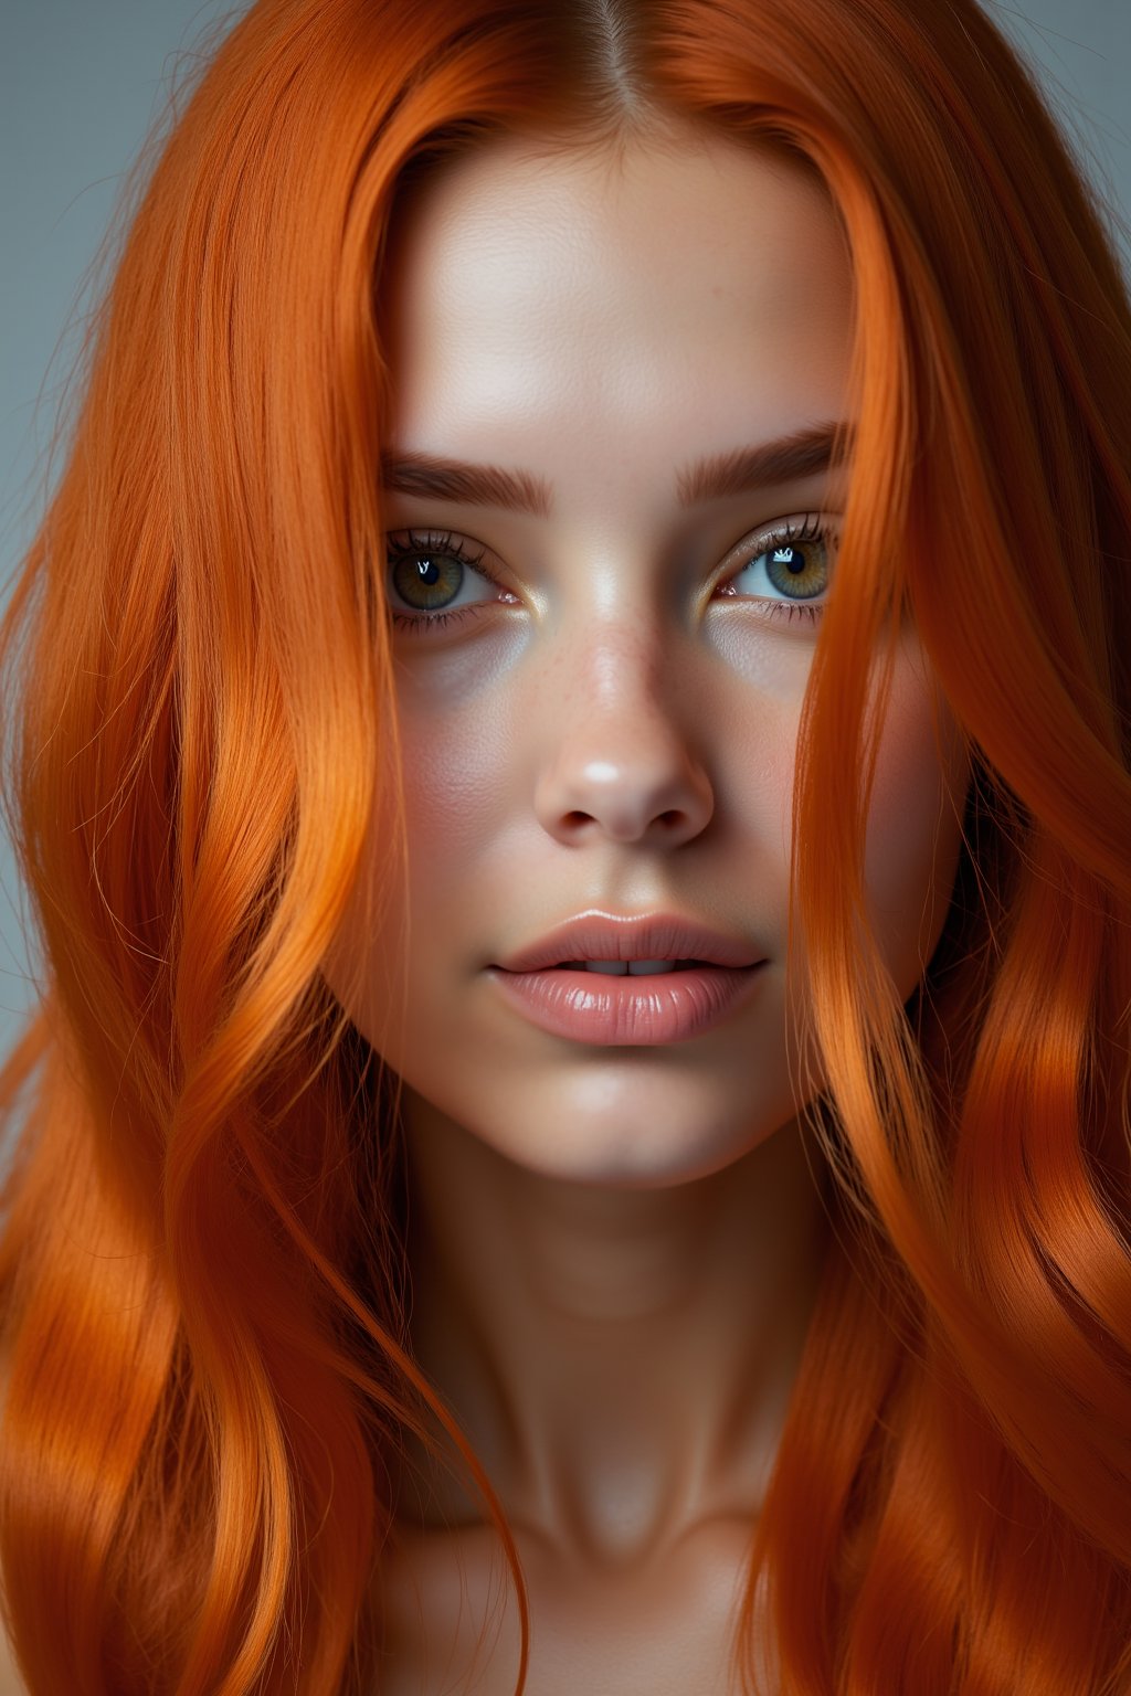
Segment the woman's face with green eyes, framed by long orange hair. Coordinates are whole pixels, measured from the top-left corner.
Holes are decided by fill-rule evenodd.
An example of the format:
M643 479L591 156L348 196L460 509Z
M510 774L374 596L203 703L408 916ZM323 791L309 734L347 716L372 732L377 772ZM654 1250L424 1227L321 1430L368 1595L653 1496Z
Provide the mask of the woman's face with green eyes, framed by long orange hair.
M809 612L836 568L819 533L843 514L846 468L811 460L705 497L688 468L846 416L843 237L807 171L726 141L549 163L507 139L417 185L390 253L409 887L370 928L375 828L326 977L404 1079L409 1126L441 1114L544 1175L702 1177L800 1106L790 797ZM409 456L502 468L527 499L429 488L419 466L392 468ZM943 729L939 755L907 629L866 841L904 999L956 867L965 765L944 712ZM678 914L763 963L727 979L736 997L709 1028L546 1029L497 967L590 912ZM571 974L563 994L639 984L677 1006L673 977ZM807 1053L804 1096L819 1084Z

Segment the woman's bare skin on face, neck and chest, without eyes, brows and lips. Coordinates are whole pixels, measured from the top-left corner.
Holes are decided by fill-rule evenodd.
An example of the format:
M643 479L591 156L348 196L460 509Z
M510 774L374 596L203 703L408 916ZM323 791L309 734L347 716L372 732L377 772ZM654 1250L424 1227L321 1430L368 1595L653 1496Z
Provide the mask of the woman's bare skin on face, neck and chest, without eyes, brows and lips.
M848 256L821 187L773 156L682 134L551 163L512 139L417 188L383 283L388 446L554 488L549 517L387 495L390 536L451 531L500 580L468 573L458 605L476 612L443 634L395 633L410 946L397 909L366 926L365 868L326 962L407 1085L414 1345L529 1562L529 1696L722 1691L826 1228L790 1087L807 990L785 974L816 628L765 617L765 580L719 585L756 531L836 521L846 483L680 509L675 477L844 416ZM909 631L866 841L905 996L943 926L967 780L933 699ZM741 936L768 960L758 994L668 1046L534 1029L485 967L593 906ZM449 1674L466 1664L482 1520L443 1477L405 1501L392 1691L432 1688L426 1654L436 1679L449 1652ZM515 1621L476 1689L514 1688Z

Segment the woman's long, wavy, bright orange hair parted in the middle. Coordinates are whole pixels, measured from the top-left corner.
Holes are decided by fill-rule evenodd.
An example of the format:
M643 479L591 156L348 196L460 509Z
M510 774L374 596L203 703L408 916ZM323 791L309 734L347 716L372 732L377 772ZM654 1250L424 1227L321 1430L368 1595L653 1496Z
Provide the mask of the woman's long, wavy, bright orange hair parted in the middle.
M855 589L794 814L839 1226L736 1671L765 1579L782 1696L1131 1684L1131 312L1102 209L972 0L258 0L137 195L0 633L44 958L0 1074L34 1696L370 1696L390 1464L431 1420L499 1526L526 1677L514 1540L407 1347L395 1089L319 960L373 809L390 901L405 855L395 192L495 132L665 114L809 159L856 280ZM973 762L907 1006L860 918L868 656L904 612Z

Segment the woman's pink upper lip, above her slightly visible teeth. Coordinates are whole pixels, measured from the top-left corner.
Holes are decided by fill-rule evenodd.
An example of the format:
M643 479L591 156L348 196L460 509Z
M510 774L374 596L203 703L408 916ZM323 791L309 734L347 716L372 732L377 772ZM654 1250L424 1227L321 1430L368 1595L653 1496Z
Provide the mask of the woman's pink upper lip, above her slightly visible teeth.
M566 960L705 960L748 967L761 962L739 936L726 936L680 912L580 912L499 962L504 972L538 972Z

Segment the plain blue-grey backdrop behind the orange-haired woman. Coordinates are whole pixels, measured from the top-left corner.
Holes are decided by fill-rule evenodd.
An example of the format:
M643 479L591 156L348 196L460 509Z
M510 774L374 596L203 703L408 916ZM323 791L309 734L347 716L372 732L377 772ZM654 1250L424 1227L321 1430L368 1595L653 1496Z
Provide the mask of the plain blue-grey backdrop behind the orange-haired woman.
M911 5L929 0L909 0ZM1131 5L985 0L1038 64L1077 156L1131 224ZM5 0L0 24L0 595L42 510L61 382L115 195L231 0ZM1131 246L1124 237L1128 275ZM47 482L49 487L49 482ZM0 1052L34 1004L25 901L0 833Z

